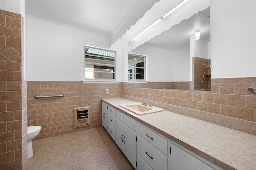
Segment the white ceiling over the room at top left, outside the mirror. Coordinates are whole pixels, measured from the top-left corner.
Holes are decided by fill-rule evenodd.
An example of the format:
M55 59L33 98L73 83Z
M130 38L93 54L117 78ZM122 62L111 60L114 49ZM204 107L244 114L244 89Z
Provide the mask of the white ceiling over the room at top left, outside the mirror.
M159 0L25 0L25 14L116 41Z

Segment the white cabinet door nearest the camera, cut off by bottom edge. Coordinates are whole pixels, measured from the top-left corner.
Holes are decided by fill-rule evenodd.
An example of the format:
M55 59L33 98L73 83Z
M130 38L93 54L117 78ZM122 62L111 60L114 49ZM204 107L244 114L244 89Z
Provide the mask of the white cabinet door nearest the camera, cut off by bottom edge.
M201 170L202 162L184 150L171 146L171 170Z

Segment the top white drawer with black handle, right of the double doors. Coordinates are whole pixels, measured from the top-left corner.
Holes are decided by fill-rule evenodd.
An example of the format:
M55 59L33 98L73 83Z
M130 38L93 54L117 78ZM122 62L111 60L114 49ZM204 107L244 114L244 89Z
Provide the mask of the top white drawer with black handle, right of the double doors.
M161 150L164 154L168 154L168 141L161 136L157 135L139 123L137 123L137 134L143 137L148 143Z

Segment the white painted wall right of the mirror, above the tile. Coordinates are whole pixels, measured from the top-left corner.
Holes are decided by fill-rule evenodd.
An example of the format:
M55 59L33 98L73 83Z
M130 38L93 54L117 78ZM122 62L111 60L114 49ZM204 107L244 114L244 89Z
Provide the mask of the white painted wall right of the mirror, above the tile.
M212 78L256 76L256 0L211 1Z

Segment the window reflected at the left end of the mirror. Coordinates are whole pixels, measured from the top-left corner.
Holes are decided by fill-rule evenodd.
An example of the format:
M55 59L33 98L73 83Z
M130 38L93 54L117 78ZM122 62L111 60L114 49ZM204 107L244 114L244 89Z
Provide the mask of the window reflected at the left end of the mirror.
M146 80L146 56L128 54L128 79Z

